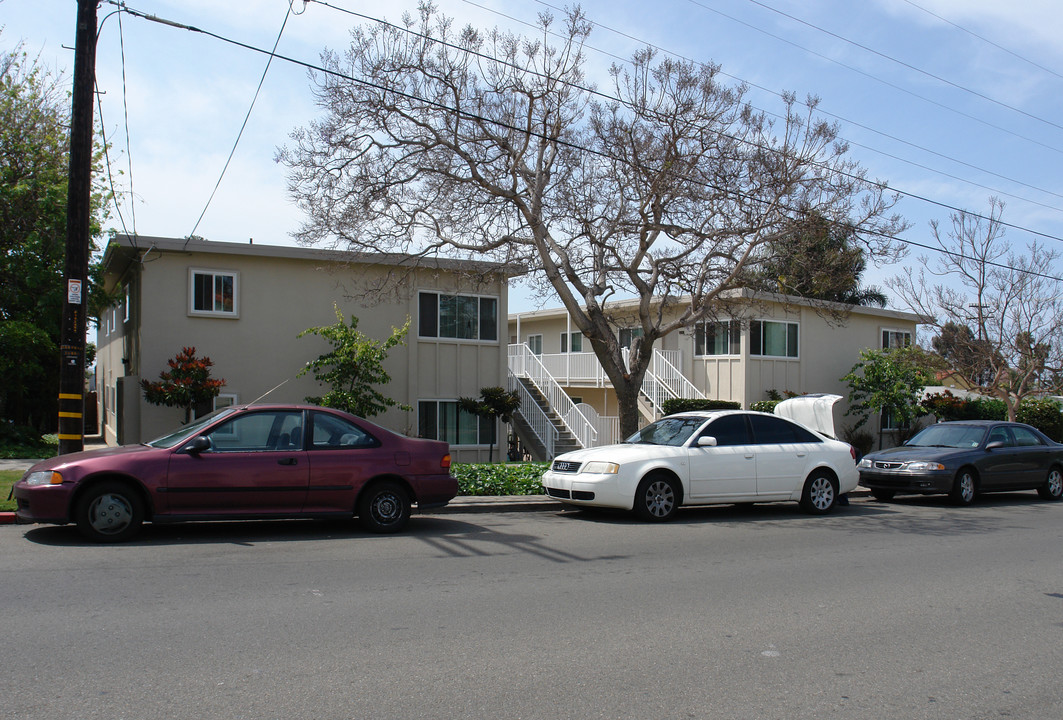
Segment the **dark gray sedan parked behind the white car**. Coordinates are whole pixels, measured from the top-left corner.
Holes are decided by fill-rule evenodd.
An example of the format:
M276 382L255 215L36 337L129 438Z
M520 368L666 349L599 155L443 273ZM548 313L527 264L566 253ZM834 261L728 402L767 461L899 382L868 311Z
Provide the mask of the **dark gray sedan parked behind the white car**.
M1063 498L1063 445L1019 422L941 422L900 446L865 455L860 484L877 500L948 495L967 505L979 492L1036 490Z

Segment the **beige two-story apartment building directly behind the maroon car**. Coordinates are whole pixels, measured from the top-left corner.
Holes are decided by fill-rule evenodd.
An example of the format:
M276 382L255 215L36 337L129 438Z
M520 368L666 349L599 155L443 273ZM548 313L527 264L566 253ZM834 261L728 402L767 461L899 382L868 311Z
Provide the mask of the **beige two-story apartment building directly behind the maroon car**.
M225 380L215 406L302 402L323 395L306 363L331 346L302 331L336 322L334 305L375 340L410 319L405 346L385 364L385 396L409 405L375 422L450 441L456 462L487 458L492 428L458 413L457 399L506 384L507 281L490 263L353 255L335 251L119 235L103 257L105 283L121 301L98 329L101 432L135 443L173 430L176 408L149 405L155 381L182 347L214 362Z

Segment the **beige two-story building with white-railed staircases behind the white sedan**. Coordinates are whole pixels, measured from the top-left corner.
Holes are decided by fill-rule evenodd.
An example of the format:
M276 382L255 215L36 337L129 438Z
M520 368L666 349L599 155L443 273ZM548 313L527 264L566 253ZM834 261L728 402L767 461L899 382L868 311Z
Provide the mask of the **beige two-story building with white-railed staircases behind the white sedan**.
M661 403L673 397L730 400L747 408L769 399L770 391L847 396L841 378L859 362L860 352L911 345L921 320L911 313L825 307L821 301L754 296L748 290L729 294L727 302L735 319L702 322L657 342L640 398L644 420L659 416ZM632 304L618 302L610 307L621 342L629 345L641 333ZM847 314L839 317L842 312ZM630 317L626 329L625 316ZM533 385L538 388L525 392L525 419L530 421L536 414L530 404L538 400L543 412L553 411L564 420L554 423L558 433L553 438L538 438L543 446L563 445L567 434L585 446L620 439L611 383L563 308L510 315L509 342L510 371L514 380L523 379L513 386L522 392ZM855 418L844 416L845 409L845 403L836 407L836 428L855 424ZM522 431L522 435L532 432ZM534 438L525 443L536 445Z

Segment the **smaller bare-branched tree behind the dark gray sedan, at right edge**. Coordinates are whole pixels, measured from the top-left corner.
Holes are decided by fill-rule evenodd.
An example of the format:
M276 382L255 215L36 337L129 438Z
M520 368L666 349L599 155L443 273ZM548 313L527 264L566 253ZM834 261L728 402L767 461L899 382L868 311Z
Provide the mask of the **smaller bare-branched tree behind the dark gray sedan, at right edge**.
M1002 213L991 198L988 216L955 213L947 232L931 222L937 261L921 257L917 273L907 268L887 284L932 318L934 349L1014 420L1024 398L1063 392L1063 283L1058 251L1037 242L1011 251Z

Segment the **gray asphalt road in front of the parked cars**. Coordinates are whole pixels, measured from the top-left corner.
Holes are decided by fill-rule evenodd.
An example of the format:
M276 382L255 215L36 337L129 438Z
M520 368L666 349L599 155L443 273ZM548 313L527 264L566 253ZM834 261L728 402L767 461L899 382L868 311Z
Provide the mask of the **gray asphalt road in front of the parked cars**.
M1063 504L0 526L0 718L1063 717Z

